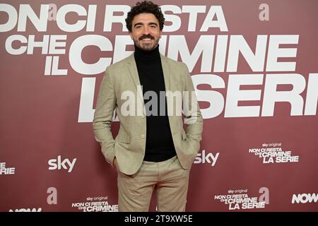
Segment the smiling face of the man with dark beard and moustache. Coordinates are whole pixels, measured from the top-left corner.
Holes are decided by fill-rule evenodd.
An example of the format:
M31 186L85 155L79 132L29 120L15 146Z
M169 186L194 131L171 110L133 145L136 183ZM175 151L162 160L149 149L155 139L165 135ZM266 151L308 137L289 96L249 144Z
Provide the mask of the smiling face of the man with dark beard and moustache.
M132 20L130 37L140 49L145 51L155 49L161 34L159 21L153 13L140 13Z

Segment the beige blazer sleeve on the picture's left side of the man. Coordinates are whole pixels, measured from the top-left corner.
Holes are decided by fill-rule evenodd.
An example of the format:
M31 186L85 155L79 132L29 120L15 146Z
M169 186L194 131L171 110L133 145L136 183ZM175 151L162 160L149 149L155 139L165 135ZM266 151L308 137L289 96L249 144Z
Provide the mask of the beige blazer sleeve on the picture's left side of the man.
M116 95L114 93L114 83L110 70L107 67L100 84L100 91L96 102L93 131L96 141L101 145L102 154L110 165L112 165L114 160L114 138L112 137L111 124L115 107Z

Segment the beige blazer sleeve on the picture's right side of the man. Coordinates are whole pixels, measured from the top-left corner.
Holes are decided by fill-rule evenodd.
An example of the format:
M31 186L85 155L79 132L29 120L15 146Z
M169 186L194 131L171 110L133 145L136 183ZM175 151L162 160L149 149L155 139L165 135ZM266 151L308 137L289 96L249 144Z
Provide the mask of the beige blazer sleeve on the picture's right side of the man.
M202 139L203 118L199 107L192 78L187 65L183 64L185 80L185 92L183 94L182 112L184 114L184 123L187 124L187 140L194 146L196 153L200 149Z

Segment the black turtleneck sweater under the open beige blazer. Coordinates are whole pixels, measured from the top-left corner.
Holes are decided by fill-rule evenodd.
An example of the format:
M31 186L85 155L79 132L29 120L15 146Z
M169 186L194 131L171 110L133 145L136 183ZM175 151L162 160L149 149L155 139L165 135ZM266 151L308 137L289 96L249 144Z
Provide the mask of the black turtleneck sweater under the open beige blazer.
M143 51L135 45L134 57L139 81L143 87L143 102L146 107L146 153L143 160L162 162L175 156L176 153L167 116L167 102L165 95L160 95L160 91L165 91L165 80L159 46L151 51ZM153 95L150 95L150 97L148 95L148 100L146 100L145 93L147 91L155 92L158 101L154 102L151 100ZM147 102L149 102L148 105ZM160 102L162 102L161 106ZM162 109L163 102L165 103L165 109ZM158 106L154 106L154 103ZM154 110L155 108L157 110ZM160 114L160 112L165 113Z

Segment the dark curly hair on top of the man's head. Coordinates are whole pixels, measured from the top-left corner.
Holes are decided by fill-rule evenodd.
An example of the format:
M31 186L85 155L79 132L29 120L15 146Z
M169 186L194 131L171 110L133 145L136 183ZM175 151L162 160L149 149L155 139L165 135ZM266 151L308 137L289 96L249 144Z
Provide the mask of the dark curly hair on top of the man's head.
M131 7L131 10L127 13L126 18L126 28L131 32L132 20L134 17L140 13L153 13L159 21L159 28L163 30L163 24L165 23L165 18L163 17L163 12L158 5L154 4L152 1L141 1L137 2L135 6Z

